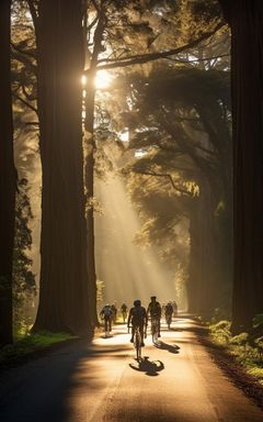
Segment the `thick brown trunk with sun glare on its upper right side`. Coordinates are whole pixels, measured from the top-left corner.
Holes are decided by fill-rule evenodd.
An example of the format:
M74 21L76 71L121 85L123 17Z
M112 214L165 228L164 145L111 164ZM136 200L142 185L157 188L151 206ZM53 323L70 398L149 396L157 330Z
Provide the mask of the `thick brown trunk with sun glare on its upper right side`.
M88 333L81 1L42 0L36 30L43 168L41 291L34 330Z

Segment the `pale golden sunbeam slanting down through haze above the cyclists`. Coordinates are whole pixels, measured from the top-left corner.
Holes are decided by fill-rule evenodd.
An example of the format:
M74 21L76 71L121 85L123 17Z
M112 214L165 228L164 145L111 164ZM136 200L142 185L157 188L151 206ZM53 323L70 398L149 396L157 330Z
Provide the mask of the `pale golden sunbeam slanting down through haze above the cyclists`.
M96 271L105 284L105 301L144 302L151 295L161 301L173 300L173 274L159 262L151 248L142 251L134 241L140 223L118 178L96 182L103 215L95 218Z

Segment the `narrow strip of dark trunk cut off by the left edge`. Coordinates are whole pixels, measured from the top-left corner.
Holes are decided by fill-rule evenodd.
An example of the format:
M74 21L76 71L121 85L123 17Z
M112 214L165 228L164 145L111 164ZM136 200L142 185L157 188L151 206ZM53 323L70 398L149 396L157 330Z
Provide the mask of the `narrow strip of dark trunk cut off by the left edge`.
M0 2L0 345L12 343L15 167L10 76L11 1Z

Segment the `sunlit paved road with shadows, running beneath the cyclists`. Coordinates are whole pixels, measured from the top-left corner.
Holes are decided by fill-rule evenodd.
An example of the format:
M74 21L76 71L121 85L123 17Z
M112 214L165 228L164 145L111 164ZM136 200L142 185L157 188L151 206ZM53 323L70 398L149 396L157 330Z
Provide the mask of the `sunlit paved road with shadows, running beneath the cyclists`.
M1 374L1 422L262 422L181 319L140 365L124 325Z

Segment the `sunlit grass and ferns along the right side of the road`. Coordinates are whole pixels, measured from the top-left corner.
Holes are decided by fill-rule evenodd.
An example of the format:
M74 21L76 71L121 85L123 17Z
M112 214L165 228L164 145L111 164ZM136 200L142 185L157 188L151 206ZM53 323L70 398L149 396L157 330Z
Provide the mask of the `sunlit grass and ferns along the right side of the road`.
M232 335L231 322L227 320L209 324L209 336L213 343L227 354L263 386L263 342L261 338L250 338L248 333Z

